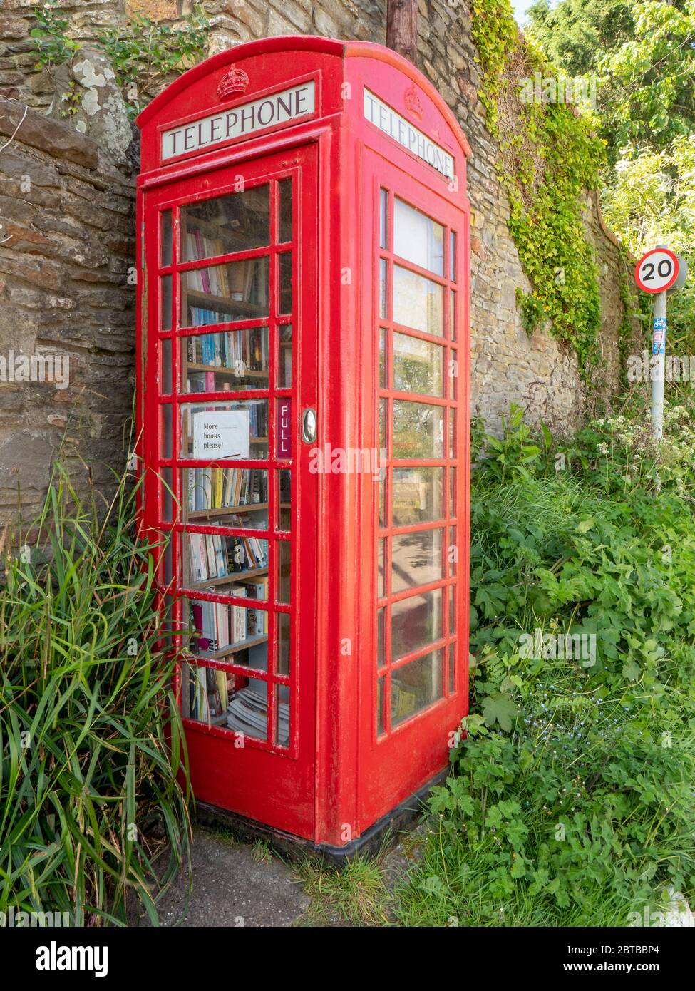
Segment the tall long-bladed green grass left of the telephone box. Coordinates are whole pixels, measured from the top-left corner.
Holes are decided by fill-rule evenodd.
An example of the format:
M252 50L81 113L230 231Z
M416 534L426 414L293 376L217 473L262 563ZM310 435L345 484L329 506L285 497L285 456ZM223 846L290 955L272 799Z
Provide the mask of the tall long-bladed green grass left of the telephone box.
M40 518L5 550L0 911L99 926L144 910L157 924L187 853L173 665L135 499L123 479L97 511L58 467Z

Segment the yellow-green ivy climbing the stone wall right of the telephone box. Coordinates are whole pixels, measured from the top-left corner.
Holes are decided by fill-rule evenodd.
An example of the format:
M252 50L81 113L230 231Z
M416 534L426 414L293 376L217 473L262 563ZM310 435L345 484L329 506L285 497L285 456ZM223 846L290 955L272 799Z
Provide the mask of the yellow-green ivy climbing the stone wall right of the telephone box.
M529 86L538 78L556 84L557 70L523 38L510 0L471 0L471 10L479 95L500 145L510 230L531 285L517 293L521 321L528 333L547 326L571 345L587 380L598 359L601 304L581 195L598 184L603 142L573 106L552 99L552 82L549 92Z

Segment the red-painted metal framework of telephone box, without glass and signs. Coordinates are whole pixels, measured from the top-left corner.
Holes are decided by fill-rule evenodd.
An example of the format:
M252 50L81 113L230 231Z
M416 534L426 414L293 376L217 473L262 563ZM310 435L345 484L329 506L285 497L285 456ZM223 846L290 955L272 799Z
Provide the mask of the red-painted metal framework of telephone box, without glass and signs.
M220 104L216 88L232 63L243 65L249 87L234 100ZM191 152L162 164L164 130L181 121L250 102L261 94L281 90L309 77L316 80L312 117L235 139L214 151ZM450 182L365 120L362 112L365 86L452 156L456 181ZM248 174L250 181L262 175L283 176L291 172L301 183L302 219L295 228L293 242L294 300L295 305L299 302L301 306L301 353L295 344L293 374L297 375L297 366L299 369L292 393L295 526L291 540L295 553L290 606L294 630L299 623L301 636L294 637L290 678L274 676L271 670L271 678L280 684L292 685L293 679L299 679L298 692L295 681L292 685L297 735L290 750L261 743L236 749L228 731L214 726L208 729L191 724L190 720L186 735L192 786L198 798L318 843L342 845L363 833L446 766L448 733L467 712L469 247L465 160L470 150L449 108L405 59L380 46L311 37L267 39L208 59L175 80L140 115L138 124L143 146L138 196L141 271L137 408L138 454L146 474L145 529L156 532L180 529L162 519L162 487L157 478L160 468L174 470L177 463L203 464L176 461L176 417L173 458L164 461L160 458L159 409L163 399L166 404L170 397L163 397L160 392L157 348L161 338L156 323L159 234L154 218L163 205L173 204L175 212L179 204L197 196L229 190L231 176L237 172ZM445 692L442 700L407 719L393 732L387 725L387 732L378 738L375 716L377 487L371 475L311 475L310 448L301 443L299 427L301 409L312 406L318 413L316 446L330 444L334 450L379 446L376 420L379 327L394 327L389 321L384 324L377 319L380 254L393 264L393 253L380 252L378 247L380 185L390 190L392 199L394 195L400 196L457 232L459 378L455 403L445 404L457 416L459 560L456 691L452 695ZM254 250L234 257L262 253ZM225 258L215 261L220 263ZM299 275L297 263L301 267ZM408 263L404 265L418 271ZM196 263L186 263L176 270L174 263L171 271L194 268ZM438 279L424 270L421 274L448 285L447 276ZM177 312L175 285L173 305ZM265 321L254 319L233 324L235 327L260 325L265 326ZM220 324L215 329L228 326ZM426 334L404 330L411 336L432 340ZM207 327L190 328L184 333L208 331ZM177 334L174 330L173 338ZM175 356L177 349L172 350ZM450 350L453 354L454 349ZM174 357L174 379L176 363ZM392 399L399 397L399 393L387 391ZM277 392L273 387L268 392L269 416L275 414ZM266 392L205 392L198 393L197 399L239 400L261 394L265 397ZM280 390L279 394L287 394L287 390ZM188 393L186 399L189 398L195 397ZM417 397L403 393L403 398ZM433 401L430 396L420 398ZM173 403L176 404L175 397ZM272 426L269 455L275 454L274 437ZM444 453L448 454L448 430L444 443ZM442 459L442 463L447 465L448 458ZM275 471L272 458L261 465L249 461L248 467L266 464L269 472ZM445 525L448 527L448 521ZM201 526L195 528L200 530ZM423 528L426 527L412 527ZM407 530L400 528L399 532ZM229 531L220 526L205 526L204 532ZM387 528L383 534L390 539L393 530ZM272 530L267 538L278 539ZM163 596L182 587L181 564L179 559L172 561L167 566L171 574L164 571L162 564ZM170 579L172 588L168 590ZM431 587L447 584L445 579ZM195 595L202 598L198 592ZM232 601L229 597L214 598ZM272 606L270 596L269 606ZM287 607L280 608L288 611ZM215 661L204 663L218 666ZM229 669L228 664L219 666Z

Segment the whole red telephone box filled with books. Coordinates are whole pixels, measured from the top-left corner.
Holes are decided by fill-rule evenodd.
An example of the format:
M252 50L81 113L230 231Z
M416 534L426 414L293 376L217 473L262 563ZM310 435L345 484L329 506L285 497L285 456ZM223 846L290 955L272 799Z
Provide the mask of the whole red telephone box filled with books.
M193 792L352 852L467 712L468 144L404 58L309 37L138 124L143 520Z

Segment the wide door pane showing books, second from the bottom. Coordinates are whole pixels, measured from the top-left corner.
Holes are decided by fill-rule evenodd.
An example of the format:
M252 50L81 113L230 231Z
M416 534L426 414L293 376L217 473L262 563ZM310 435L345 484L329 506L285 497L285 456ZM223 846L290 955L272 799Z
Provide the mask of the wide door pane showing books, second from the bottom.
M202 600L188 607L188 649L198 656L227 658L233 664L268 670L268 612Z

